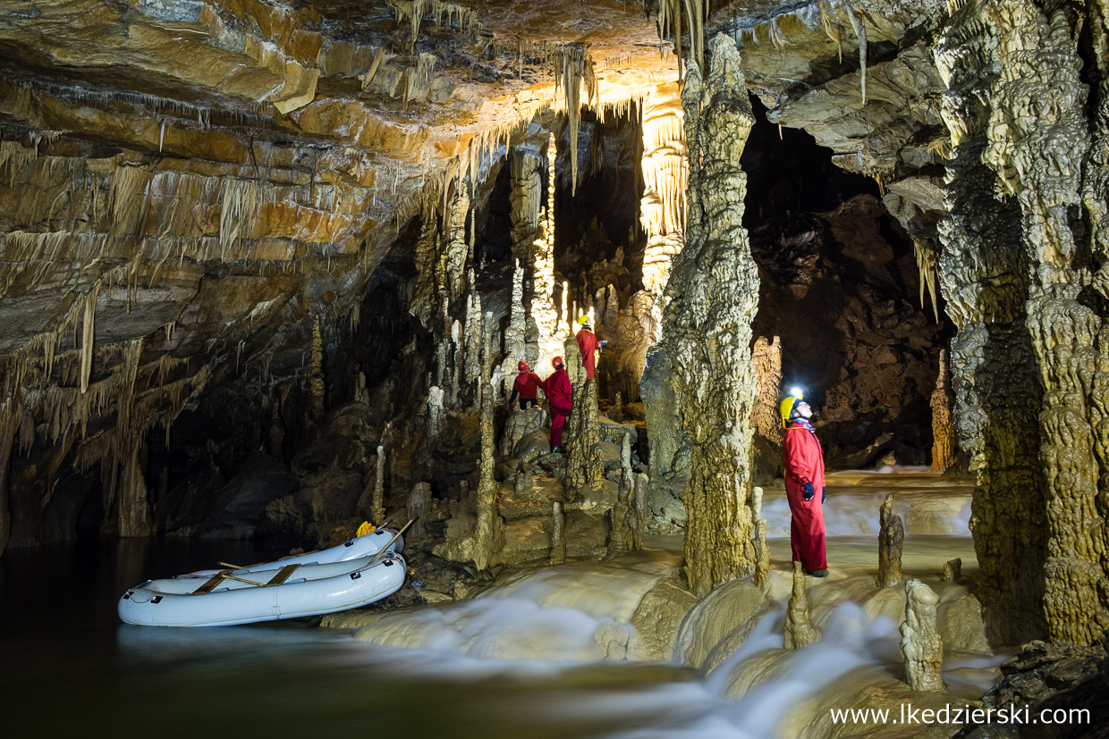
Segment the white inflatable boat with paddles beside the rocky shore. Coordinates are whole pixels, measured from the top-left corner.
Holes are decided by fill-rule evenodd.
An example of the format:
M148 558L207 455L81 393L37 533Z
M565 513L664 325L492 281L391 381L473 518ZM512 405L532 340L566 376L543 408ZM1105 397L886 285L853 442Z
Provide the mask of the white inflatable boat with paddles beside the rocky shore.
M399 534L384 533L250 567L146 581L123 594L118 612L125 623L141 626L233 626L357 608L404 585L407 566L388 535L399 541ZM370 547L356 558L335 558L339 550Z

